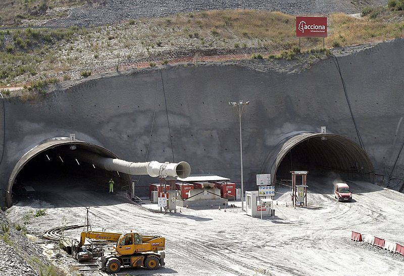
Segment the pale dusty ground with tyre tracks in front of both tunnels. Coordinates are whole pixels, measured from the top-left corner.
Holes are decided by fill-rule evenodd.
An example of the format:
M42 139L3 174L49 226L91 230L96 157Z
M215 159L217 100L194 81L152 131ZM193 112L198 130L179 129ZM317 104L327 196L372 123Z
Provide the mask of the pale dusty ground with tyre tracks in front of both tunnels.
M121 270L129 275L402 275L403 256L353 242L350 231L403 243L404 194L364 182L348 183L354 200L337 202L328 179L309 178L309 206L296 209L290 207L288 189L276 187L274 219L253 218L240 208L226 212L216 207L182 208L176 214L150 212L125 202L121 196L94 190L95 184L84 188L65 184L64 190L48 185L46 198L20 201L9 209L8 216L22 223L29 210L46 208L46 215L31 218L28 225L28 230L38 236L64 223L84 223L83 206L92 206L93 230L134 229L166 237L166 266L158 271ZM289 200L287 207L285 198ZM67 235L75 236L78 231ZM39 242L48 244L49 256L58 252L49 249L48 241ZM77 268L70 267L75 261L69 256L55 261L70 273L77 273ZM95 271L82 273L98 275Z

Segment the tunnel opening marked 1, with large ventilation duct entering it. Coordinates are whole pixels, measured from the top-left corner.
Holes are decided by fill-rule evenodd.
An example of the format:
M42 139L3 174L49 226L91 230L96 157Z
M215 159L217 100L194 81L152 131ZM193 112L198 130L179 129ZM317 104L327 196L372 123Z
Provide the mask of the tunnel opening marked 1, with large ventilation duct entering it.
M131 184L131 177L127 174L107 171L84 162L76 156L78 150L118 158L103 147L77 140L56 139L40 144L17 162L9 180L12 198L7 199L8 206L27 196L24 188L27 186L36 191L35 198L46 201L50 196L54 200L63 200L63 193L72 190L108 192L107 182L110 178L115 181L115 189Z

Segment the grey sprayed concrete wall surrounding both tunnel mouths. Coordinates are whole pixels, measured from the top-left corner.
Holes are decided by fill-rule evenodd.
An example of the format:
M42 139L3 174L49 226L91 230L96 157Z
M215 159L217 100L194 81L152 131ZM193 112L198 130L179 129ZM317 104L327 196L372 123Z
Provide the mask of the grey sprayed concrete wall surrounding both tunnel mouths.
M404 40L396 39L336 54L352 113L377 174L391 173L404 139L403 50ZM114 74L57 88L43 100L5 100L5 128L0 120L0 146L5 145L0 188L11 189L11 171L31 148L70 133L121 159L144 161L156 91L147 159L185 160L193 174L209 172L233 181L240 179L239 125L228 102L250 101L242 117L246 189L254 187L256 174L270 170L268 155L291 134L316 133L327 126L328 133L358 143L332 58L299 73L268 70L266 64L270 62ZM402 175L403 169L404 159L399 157L392 175Z

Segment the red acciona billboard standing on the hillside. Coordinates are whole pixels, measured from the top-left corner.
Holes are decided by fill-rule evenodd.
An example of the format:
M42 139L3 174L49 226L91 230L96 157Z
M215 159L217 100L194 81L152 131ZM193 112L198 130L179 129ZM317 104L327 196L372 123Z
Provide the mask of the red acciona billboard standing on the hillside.
M297 37L327 37L327 17L296 16Z

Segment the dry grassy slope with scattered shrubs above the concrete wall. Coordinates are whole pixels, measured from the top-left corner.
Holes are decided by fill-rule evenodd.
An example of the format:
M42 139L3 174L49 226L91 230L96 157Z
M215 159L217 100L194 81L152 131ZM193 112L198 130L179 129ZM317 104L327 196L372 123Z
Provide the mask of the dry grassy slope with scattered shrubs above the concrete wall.
M361 19L330 15L325 46L344 47L402 36L401 2L389 5L364 9ZM3 30L0 87L38 80L41 84L55 83L87 77L103 68L111 71L125 64L135 66L139 61L150 66L167 64L182 56L245 53L252 58L293 59L300 51L298 41L293 16L255 10L177 14L90 29ZM322 44L321 38L305 38L300 47L322 48Z

